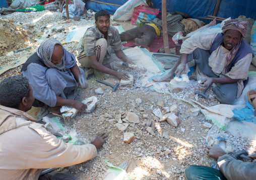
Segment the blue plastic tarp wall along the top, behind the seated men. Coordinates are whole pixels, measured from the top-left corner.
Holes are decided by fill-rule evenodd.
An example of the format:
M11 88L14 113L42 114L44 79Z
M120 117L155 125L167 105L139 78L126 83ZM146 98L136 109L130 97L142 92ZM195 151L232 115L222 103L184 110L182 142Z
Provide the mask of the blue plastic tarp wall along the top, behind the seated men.
M101 9L114 14L117 8L125 4L128 0L93 0L86 3L86 9L99 11ZM162 11L162 1L152 0L155 9ZM112 5L110 5L112 4ZM189 16L206 18L208 15L213 16L217 0L167 0L166 11L179 11L187 13ZM237 18L244 15L247 18L256 20L256 0L221 0L217 17ZM203 21L203 19L200 19Z

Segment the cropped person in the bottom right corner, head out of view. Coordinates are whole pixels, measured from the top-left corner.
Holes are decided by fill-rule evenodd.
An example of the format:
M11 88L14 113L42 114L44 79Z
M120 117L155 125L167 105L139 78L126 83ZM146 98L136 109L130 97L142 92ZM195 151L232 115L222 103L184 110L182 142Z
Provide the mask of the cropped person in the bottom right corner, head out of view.
M190 165L185 169L187 180L252 180L256 177L256 155L249 155L252 162L243 162L226 154L217 145L207 147L210 157L217 159L220 170L203 165Z

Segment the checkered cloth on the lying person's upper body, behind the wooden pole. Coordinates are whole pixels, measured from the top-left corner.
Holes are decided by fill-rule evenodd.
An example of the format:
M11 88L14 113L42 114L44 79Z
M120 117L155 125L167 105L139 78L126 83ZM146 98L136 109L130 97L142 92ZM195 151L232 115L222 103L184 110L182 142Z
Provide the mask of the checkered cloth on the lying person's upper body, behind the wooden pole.
M183 35L186 35L186 32L184 31L184 25L180 22L181 20L183 20L181 15L168 14L166 16L168 35L174 36L179 31L181 31ZM151 23L154 23L160 30L163 29L162 20L155 18Z

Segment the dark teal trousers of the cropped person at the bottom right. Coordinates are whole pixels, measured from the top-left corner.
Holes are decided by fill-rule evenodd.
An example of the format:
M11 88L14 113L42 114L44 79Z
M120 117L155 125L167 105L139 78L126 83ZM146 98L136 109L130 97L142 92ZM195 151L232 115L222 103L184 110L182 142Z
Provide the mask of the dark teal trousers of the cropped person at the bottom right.
M185 170L187 180L227 180L224 174L215 168L203 165L189 165Z

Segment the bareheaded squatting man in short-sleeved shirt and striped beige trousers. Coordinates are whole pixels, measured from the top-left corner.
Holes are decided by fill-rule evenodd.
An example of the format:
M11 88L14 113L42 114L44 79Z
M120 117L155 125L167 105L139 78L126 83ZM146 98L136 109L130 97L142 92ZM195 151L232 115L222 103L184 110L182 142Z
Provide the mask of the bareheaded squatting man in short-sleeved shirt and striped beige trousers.
M78 62L90 68L86 77L94 73L96 79L104 80L102 73L115 76L122 80L129 80L126 72L117 72L123 66L120 62L134 64L121 50L118 30L110 26L110 15L105 10L95 14L95 26L88 29L81 38L78 50ZM112 53L114 50L114 53Z

